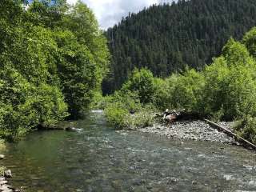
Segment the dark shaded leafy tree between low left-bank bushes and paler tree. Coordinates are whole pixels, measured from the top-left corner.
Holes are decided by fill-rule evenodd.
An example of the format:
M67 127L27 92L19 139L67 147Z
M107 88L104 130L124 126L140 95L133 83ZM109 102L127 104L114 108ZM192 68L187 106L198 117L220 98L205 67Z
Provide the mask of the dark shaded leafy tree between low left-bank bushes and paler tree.
M55 32L59 51L58 76L72 118L89 106L97 83L96 64L90 50L76 41L70 31Z

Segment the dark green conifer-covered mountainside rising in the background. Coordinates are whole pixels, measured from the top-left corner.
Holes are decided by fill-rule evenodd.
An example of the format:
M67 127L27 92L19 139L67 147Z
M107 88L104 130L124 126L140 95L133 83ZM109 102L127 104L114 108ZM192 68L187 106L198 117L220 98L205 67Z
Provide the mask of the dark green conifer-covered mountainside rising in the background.
M150 6L106 31L112 61L104 94L121 88L134 67L166 77L186 66L202 70L232 36L256 25L254 0L190 0Z

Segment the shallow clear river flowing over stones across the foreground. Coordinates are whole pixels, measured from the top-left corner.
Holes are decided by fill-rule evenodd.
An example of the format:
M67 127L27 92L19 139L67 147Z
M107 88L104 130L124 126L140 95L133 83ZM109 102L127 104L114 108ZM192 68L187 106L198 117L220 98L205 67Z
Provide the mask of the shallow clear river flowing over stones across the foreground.
M34 132L1 162L27 192L256 191L256 154L238 146L115 131L95 111L82 130Z

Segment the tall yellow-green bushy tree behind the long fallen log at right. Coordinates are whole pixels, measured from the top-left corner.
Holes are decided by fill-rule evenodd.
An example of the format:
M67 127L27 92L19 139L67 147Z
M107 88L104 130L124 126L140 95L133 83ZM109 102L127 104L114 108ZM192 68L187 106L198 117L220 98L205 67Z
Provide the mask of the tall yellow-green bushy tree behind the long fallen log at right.
M232 120L242 114L255 114L255 62L246 47L230 40L223 57L206 67L203 90L205 114L223 110L223 117Z

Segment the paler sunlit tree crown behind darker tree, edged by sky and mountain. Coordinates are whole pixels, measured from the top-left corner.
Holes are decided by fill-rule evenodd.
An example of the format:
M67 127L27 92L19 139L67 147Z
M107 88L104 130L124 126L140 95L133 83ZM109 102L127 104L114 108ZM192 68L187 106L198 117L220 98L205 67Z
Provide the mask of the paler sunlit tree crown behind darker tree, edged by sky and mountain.
M62 25L72 31L78 38L78 42L90 50L97 67L97 87L100 88L102 78L108 71L110 53L107 40L102 31L98 29L98 21L94 13L79 0L72 7Z

